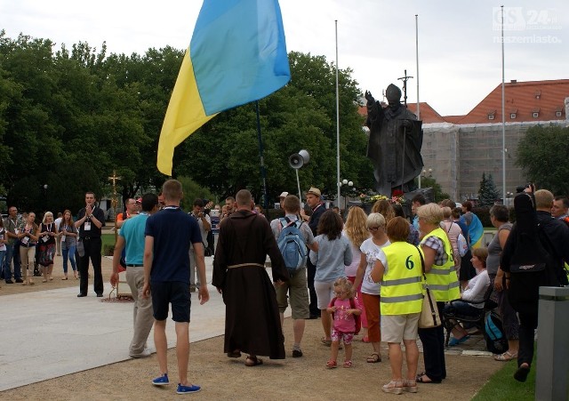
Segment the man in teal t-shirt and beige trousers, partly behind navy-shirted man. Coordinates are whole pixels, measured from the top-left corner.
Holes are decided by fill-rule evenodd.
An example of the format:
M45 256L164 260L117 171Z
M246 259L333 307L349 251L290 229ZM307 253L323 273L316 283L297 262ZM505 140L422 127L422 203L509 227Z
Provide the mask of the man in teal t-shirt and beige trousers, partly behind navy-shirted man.
M158 196L146 194L142 196L142 212L133 214L132 219L125 220L116 238L115 253L113 254L113 273L110 284L116 287L118 269L125 248L126 282L131 287L134 299L134 333L128 355L130 357L149 357L150 351L145 349L148 334L154 324L152 316L152 301L142 296L144 287L144 231L148 216L158 211Z

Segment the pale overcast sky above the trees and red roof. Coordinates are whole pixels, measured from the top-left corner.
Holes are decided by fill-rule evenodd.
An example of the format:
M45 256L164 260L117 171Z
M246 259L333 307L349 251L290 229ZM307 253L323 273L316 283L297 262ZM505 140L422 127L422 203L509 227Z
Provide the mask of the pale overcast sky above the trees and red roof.
M109 52L188 46L199 0L0 0L0 29L61 43L84 41ZM388 84L414 76L408 101L417 100L415 14L419 15L420 99L440 114L462 115L501 84L500 3L450 0L280 0L287 50L335 60L338 20L340 68L352 68L363 91L381 99ZM505 78L569 78L569 3L517 1L505 10ZM497 29L497 30L496 30Z

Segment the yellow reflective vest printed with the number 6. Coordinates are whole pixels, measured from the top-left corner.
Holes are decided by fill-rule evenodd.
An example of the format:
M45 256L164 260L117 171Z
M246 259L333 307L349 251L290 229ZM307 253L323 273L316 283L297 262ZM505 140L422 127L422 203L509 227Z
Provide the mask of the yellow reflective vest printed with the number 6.
M396 242L381 250L388 271L381 282L381 315L408 315L421 312L423 303L421 251L406 242Z

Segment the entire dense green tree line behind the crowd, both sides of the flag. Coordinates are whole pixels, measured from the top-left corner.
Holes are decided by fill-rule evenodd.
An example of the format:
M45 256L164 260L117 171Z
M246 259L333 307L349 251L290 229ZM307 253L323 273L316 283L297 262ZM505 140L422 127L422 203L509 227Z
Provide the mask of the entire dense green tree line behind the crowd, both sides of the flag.
M107 54L86 43L55 49L49 39L0 31L0 182L22 209L76 210L86 190L109 193L116 171L124 198L159 187L156 147L184 52L166 46L144 54ZM323 56L289 54L292 80L259 101L268 199L295 192L288 157L302 148L302 190L336 194L335 67ZM349 68L340 71L341 177L371 188L367 138L357 114L361 93ZM216 116L174 155L174 177L212 194L240 188L262 194L255 104ZM47 185L47 188L44 186ZM207 192L209 193L209 192Z

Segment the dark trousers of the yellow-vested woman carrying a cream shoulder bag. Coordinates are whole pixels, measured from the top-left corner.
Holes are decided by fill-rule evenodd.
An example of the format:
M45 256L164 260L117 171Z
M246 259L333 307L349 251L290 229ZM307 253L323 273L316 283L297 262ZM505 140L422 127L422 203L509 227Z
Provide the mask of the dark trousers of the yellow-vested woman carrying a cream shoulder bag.
M443 316L444 307L445 302L437 302L439 316ZM432 381L446 379L444 325L432 329L419 329L419 338L423 344L425 373Z

